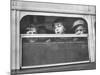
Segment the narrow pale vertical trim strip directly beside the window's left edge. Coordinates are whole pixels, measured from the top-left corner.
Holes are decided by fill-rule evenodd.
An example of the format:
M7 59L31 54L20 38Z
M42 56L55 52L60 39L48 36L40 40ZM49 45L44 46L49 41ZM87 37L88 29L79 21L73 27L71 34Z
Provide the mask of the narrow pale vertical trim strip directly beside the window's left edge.
M16 69L20 69L20 11L16 11L16 24L15 24L15 30L16 30Z

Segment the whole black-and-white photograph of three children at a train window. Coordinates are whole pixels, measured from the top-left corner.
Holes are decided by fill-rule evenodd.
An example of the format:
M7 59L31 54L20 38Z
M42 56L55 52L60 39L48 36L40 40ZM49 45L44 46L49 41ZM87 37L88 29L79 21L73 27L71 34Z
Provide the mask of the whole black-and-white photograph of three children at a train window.
M96 69L96 5L11 0L11 75Z

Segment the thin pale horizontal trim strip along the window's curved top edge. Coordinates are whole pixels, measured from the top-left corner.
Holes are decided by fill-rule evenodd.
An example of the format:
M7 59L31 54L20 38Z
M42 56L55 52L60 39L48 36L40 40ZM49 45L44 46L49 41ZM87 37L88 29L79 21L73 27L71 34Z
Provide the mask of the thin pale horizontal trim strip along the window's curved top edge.
M63 13L48 13L48 12L32 12L32 11L20 11L20 20L26 16L26 15L38 15L38 16L55 16L55 17L73 17L73 18L84 18L84 15L80 15L80 14L69 14L69 13L66 13L66 14L63 14Z

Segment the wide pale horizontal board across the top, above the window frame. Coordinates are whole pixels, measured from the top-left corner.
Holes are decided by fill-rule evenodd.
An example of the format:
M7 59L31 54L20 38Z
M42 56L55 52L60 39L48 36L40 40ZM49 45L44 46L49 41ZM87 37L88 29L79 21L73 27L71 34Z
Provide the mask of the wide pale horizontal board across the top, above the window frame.
M60 13L95 14L95 6L35 1L12 1L12 9Z

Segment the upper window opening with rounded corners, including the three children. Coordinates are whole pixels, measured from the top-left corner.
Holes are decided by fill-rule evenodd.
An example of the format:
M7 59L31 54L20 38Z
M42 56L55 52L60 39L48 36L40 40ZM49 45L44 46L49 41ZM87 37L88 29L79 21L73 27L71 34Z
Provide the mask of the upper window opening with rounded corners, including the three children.
M82 18L27 15L20 21L21 34L83 34L87 31L87 23Z

